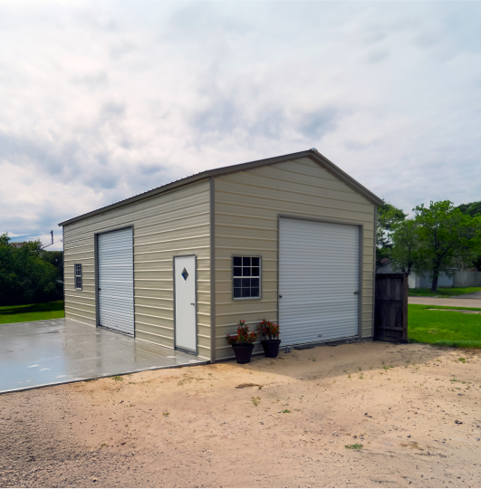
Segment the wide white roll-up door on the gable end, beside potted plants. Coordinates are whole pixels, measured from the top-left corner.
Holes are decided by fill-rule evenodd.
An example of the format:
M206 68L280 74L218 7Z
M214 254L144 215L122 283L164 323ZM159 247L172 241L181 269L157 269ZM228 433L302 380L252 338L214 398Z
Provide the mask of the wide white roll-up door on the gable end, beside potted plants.
M279 326L285 345L359 334L359 227L280 219Z

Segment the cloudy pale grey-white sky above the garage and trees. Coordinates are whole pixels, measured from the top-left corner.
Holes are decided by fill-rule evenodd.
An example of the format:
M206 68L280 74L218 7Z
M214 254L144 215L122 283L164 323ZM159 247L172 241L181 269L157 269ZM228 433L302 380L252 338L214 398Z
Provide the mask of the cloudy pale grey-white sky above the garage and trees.
M461 1L0 3L0 233L313 147L406 211L481 200L479 25Z

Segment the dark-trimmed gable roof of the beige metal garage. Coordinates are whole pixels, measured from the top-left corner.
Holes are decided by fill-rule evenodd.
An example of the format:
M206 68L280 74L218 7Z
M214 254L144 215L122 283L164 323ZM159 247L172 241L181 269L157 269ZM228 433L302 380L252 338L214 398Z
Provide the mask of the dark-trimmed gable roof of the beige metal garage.
M334 177L338 178L343 183L345 183L348 187L351 187L352 190L354 190L358 194L361 194L362 197L369 200L371 204L374 204L375 206L381 206L382 204L384 204L384 201L380 199L380 197L375 196L370 190L362 186L359 182L354 180L354 178L350 177L346 172L342 171L341 168L336 167L336 165L334 165L332 161L322 156L322 154L317 149L313 148L313 149L308 149L307 151L299 151L298 153L291 153L289 155L284 155L280 157L258 159L256 161L250 161L248 163L231 165L230 167L222 167L222 168L215 168L211 170L201 171L200 173L196 173L195 175L192 175L190 177L180 178L179 180L175 180L161 187L152 188L151 190L148 190L147 192L142 192L137 196L120 200L119 202L115 202L114 204L111 204L109 206L101 207L99 209L93 210L86 214L82 214L81 216L72 217L72 219L67 219L62 223L59 223L59 225L72 224L76 221L80 221L81 219L84 219L85 217L96 216L98 214L102 214L106 211L115 209L117 207L127 206L134 202L138 202L139 200L143 200L144 198L154 197L157 196L158 194L162 194L163 192L168 192L168 190L173 190L178 187L183 187L185 185L195 183L199 180L203 180L204 178L221 177L222 175L227 175L229 173L236 173L237 171L244 171L251 168L265 167L267 165L274 165L275 163L283 163L284 161L291 161L293 159L298 159L298 158L312 159L320 167L325 168Z

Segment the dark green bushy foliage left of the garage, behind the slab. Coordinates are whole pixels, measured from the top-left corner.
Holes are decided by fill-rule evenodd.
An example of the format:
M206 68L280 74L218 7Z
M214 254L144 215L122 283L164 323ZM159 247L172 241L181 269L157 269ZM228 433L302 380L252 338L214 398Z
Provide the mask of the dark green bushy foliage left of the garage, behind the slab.
M0 235L0 305L47 302L59 299L63 283L59 271L49 263L40 241L11 245Z

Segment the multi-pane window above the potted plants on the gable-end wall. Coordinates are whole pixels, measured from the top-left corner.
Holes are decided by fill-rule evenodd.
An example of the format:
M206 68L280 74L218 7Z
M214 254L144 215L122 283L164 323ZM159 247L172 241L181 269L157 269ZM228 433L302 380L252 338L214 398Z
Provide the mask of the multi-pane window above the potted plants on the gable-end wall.
M260 256L232 257L232 298L260 299L262 259Z

